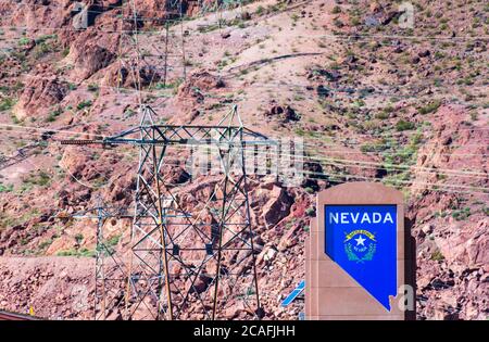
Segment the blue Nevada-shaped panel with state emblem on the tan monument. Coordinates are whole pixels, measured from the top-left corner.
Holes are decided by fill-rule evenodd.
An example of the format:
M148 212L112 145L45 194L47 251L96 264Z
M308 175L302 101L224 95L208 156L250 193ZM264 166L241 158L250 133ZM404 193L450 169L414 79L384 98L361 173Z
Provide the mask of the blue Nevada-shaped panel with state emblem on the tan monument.
M396 205L325 205L326 254L390 312L397 294Z

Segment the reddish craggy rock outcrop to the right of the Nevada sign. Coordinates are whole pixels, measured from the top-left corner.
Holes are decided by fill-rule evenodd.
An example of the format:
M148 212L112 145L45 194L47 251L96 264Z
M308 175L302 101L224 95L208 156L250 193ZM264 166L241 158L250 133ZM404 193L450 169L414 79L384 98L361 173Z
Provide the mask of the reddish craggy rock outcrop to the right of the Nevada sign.
M418 152L409 205L415 220L417 244L417 314L421 319L486 319L489 287L488 227L477 194L430 191L440 182L431 169L471 169L487 173L484 131L467 127L467 113L460 106L441 106L432 122L432 139ZM447 174L442 181L455 187L487 187L487 178ZM456 189L456 188L454 188Z

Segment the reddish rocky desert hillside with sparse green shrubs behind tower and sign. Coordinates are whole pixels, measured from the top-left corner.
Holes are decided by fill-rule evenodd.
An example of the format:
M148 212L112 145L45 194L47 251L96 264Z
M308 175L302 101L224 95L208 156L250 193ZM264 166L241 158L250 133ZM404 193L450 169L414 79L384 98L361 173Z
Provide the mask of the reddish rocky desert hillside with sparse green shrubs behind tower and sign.
M264 0L205 13L183 1L181 23L170 2L136 1L136 21L121 20L130 14L122 1L84 2L86 22L75 1L0 0L0 308L88 317L89 307L73 309L72 288L93 295L96 223L66 217L98 195L130 207L138 154L59 140L138 125L141 96L160 123L216 124L237 104L249 128L304 139L301 187L266 178L250 189L268 318L297 318L302 303L279 302L303 279L314 195L350 180L405 193L418 318L487 318L484 1L413 1L411 26L392 1ZM130 221L114 225L124 252ZM48 295L53 282L60 299Z

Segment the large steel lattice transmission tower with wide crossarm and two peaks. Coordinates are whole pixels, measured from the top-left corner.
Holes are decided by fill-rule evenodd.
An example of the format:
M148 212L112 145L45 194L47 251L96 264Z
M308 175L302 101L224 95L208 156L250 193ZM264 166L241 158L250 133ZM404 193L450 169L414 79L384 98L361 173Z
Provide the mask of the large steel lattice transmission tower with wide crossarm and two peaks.
M87 141L140 151L125 318L262 318L244 149L272 142L244 128L236 106L216 126L155 125L152 109L142 111L138 127ZM172 149L214 151L217 168L196 181L168 179Z

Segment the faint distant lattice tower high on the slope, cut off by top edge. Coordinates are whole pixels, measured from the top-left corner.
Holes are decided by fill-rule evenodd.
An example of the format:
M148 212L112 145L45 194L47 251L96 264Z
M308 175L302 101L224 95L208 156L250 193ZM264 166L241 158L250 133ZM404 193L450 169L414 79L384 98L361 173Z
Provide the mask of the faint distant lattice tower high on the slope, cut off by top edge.
M143 88L165 89L186 78L184 11L183 0L166 1L165 14L161 17L139 13L134 0L125 1L121 8L116 86L138 90L140 103ZM162 24L164 34L145 29L146 25Z

